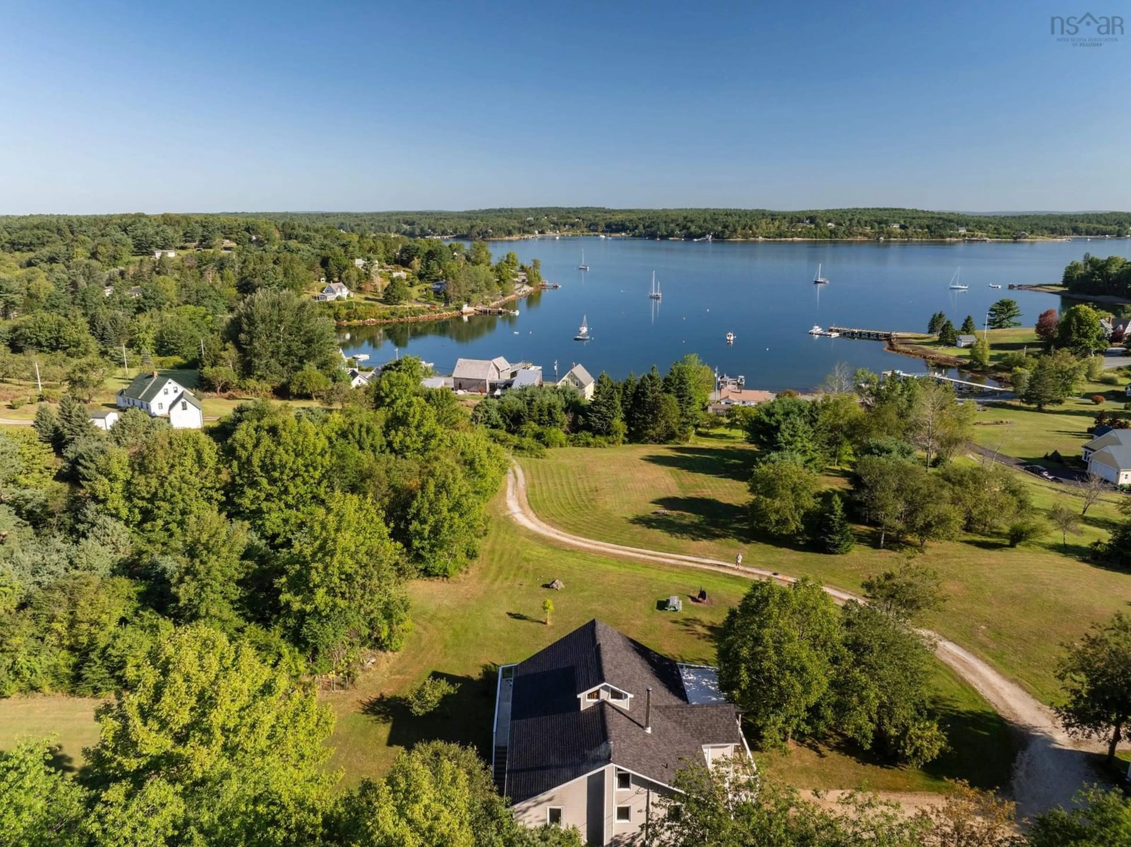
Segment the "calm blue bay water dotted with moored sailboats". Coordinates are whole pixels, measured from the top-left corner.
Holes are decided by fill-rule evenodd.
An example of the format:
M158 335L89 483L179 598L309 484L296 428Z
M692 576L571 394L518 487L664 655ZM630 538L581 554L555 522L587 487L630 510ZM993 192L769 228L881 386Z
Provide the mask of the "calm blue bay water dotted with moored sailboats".
M581 249L589 271L577 269ZM878 342L814 338L819 323L926 331L942 310L959 326L970 314L982 326L999 297L1017 300L1026 325L1060 297L1007 289L1010 283L1059 282L1064 266L1086 251L1131 254L1124 240L1078 239L1033 244L952 243L708 243L628 239L538 239L493 242L497 258L515 251L523 261L542 259L543 276L561 288L515 304L518 317L389 327L351 327L347 354L370 353L373 364L395 348L451 373L460 356L541 364L560 373L573 362L594 375L623 378L653 364L663 371L685 353L711 366L744 374L749 388L813 388L837 362L872 370L920 369L915 360L884 352ZM817 265L830 279L814 286ZM961 266L967 292L948 288ZM651 271L664 297L649 300ZM1002 288L990 288L991 283ZM820 288L820 291L818 291ZM582 316L593 339L573 342ZM728 331L737 338L727 346Z

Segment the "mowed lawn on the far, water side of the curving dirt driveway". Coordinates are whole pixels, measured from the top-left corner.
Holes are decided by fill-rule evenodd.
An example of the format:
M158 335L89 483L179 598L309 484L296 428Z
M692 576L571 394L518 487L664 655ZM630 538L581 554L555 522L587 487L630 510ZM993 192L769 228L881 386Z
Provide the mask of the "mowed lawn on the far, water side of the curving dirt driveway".
M1089 510L1082 535L1069 536L1072 555L1061 552L1061 538L1052 530L1018 548L967 536L918 552L878 550L874 534L858 527L856 548L831 556L751 535L745 481L752 459L746 446L723 433L714 443L562 448L545 458L524 458L523 467L534 510L556 527L593 538L723 561L741 552L744 564L809 574L855 591L870 574L915 555L942 574L948 595L946 607L927 623L1045 702L1059 697L1054 667L1061 643L1131 600L1131 576L1081 559L1087 545L1114 526L1114 495ZM1079 508L1067 486L1019 477L1033 486L1038 508L1062 499ZM846 484L843 477L826 482Z

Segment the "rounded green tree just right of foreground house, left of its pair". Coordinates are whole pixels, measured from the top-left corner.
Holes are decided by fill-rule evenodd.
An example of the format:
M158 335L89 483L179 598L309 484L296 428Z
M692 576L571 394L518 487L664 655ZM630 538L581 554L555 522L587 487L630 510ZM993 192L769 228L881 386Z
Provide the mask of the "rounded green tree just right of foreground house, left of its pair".
M717 641L719 685L767 744L824 728L815 707L841 662L836 605L819 585L754 582Z

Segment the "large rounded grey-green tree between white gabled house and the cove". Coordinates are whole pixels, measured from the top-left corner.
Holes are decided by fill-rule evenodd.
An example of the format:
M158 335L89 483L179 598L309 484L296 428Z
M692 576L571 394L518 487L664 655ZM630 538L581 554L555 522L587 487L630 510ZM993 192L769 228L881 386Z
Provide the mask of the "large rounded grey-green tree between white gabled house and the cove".
M244 297L227 332L240 356L240 375L271 386L307 366L329 373L340 361L334 321L292 291L260 288Z

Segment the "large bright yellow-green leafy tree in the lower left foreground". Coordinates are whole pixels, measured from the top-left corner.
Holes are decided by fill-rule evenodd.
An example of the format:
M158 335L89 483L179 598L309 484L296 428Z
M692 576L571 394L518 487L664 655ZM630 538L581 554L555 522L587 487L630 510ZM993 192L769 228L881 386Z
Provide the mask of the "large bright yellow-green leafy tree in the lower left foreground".
M89 824L100 844L223 844L231 832L317 841L336 781L322 767L334 714L250 645L174 630L135 657L96 717L87 761L102 790ZM176 840L116 840L115 828L149 815Z

